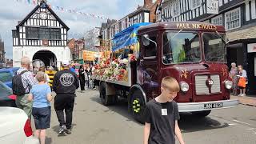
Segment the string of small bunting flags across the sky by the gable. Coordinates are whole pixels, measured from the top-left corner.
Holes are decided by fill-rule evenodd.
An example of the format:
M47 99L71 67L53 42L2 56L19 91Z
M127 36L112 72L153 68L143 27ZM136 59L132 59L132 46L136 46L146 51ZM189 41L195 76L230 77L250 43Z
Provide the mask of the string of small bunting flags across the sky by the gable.
M29 5L38 5L38 0L13 0L13 1L14 2L27 3ZM65 9L62 6L52 6L50 4L48 4L48 6L53 10L58 10L58 11L61 11L61 12L67 12L67 13L70 13L70 14L79 14L79 15L82 15L82 16L86 16L86 17L90 17L90 18L98 18L98 19L103 19L103 20L108 19L107 17L99 15L99 14L88 14L88 13L78 11L78 10Z

